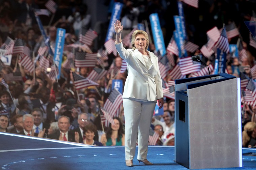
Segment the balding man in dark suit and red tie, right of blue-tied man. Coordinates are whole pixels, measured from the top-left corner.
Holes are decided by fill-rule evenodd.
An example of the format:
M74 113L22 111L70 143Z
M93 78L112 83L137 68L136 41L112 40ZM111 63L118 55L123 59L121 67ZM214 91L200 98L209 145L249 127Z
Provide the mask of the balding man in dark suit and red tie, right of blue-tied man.
M58 119L59 131L49 134L48 138L79 143L78 132L68 131L70 126L69 117L60 116Z

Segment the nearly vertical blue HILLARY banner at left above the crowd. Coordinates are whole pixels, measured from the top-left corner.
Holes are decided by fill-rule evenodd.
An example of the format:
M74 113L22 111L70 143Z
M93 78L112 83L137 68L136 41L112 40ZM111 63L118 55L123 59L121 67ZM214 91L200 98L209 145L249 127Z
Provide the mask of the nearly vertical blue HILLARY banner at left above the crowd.
M60 78L60 73L61 73L60 67L62 62L62 53L64 49L65 33L66 33L65 29L61 29L61 28L57 29L54 62L56 64L56 67L59 69L58 79Z

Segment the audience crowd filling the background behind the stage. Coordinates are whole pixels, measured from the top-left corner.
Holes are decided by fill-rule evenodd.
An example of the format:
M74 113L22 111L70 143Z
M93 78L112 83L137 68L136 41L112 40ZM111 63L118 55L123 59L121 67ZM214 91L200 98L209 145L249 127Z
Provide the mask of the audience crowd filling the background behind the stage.
M31 56L37 56L40 47L45 45L32 9L46 9L47 1L0 0L0 46L5 43L7 37L13 40L21 39L31 50ZM104 1L109 11L113 7L113 2L114 0ZM115 2L124 4L120 18L124 25L124 33L130 33L137 27L137 23L145 20L150 27L149 14L158 13L165 45L168 45L172 31L175 30L173 15L179 14L177 0L115 0ZM65 45L75 44L79 41L79 35L84 35L86 31L93 29L92 17L88 12L90 7L82 1L56 0L55 3L58 8L49 26L47 25L53 14L50 17L40 16L51 47L55 47L58 27L66 30ZM246 50L247 57L240 60L238 57L228 55L227 72L241 79L242 76L246 76L248 80L254 82L254 90L256 85L251 68L256 64L256 47L250 45L249 30L244 20L249 21L254 17L253 10L256 9L256 3L247 0L199 0L198 4L199 7L194 8L183 3L187 39L201 47L207 43L206 32L212 27L217 26L221 29L223 23L234 22L240 34L239 37L229 39L229 43L236 44L238 38L242 39L242 48ZM107 13L106 17L109 15L111 12ZM100 108L104 106L111 92L112 80L120 79L124 84L127 78L127 71L120 72L122 58L118 54L108 54L104 51L108 24L108 22L102 23L100 28L94 29L100 31L89 48L80 47L71 50L64 48L63 52L62 64L70 56L74 56L73 51L77 50L101 55L102 60L97 60L95 67L104 68L107 73L96 81L97 86L76 90L74 84L72 73L87 77L93 67L72 65L67 69L62 66L60 78L54 80L49 76L50 72L40 65L40 58L35 62L34 75L24 68L19 55L12 55L10 65L1 63L0 79L16 72L21 73L21 79L6 80L8 88L3 82L0 84L0 131L97 146L124 146L125 118L122 104L118 114L113 117L115 124L110 123L105 126L101 121L103 113ZM156 54L153 42L150 42L149 49ZM101 52L104 52L104 57ZM189 55L196 54L201 54L200 50ZM202 57L202 61L207 64L214 64L216 56L213 54L209 58ZM174 59L174 63L178 64L179 57L174 56ZM52 56L49 60L50 62L53 60ZM186 75L186 77L190 76L190 74ZM171 78L172 75L167 75L164 80L168 82ZM155 145L174 146L174 103L173 99L165 97L163 115L153 116L151 127L159 135ZM243 147L255 147L256 106L246 103L242 103L242 106Z

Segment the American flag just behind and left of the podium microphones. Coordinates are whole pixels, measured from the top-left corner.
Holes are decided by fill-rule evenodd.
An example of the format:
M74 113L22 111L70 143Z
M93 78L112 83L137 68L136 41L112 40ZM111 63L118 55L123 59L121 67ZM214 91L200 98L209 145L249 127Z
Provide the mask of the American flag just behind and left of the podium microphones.
M191 57L181 58L179 65L182 75L200 71L201 67L201 63L192 61Z

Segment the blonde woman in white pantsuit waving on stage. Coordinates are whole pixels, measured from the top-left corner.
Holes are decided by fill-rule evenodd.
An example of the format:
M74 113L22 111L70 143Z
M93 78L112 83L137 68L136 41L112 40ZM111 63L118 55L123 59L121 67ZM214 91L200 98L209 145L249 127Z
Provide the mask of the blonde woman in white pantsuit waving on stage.
M123 31L121 22L117 20L114 27L116 48L119 55L127 62L128 69L123 94L126 166L133 166L137 134L137 160L145 165L153 165L147 160L149 128L157 99L160 108L163 106L158 59L154 53L146 50L149 46L149 37L145 31L134 31L131 40L132 49L125 49L121 39Z

